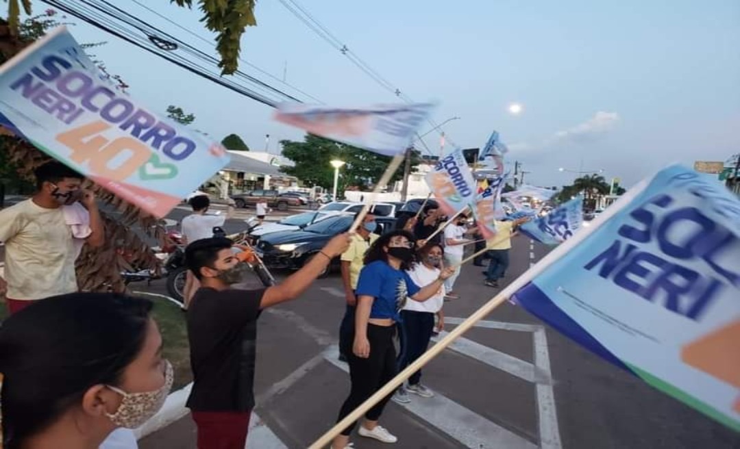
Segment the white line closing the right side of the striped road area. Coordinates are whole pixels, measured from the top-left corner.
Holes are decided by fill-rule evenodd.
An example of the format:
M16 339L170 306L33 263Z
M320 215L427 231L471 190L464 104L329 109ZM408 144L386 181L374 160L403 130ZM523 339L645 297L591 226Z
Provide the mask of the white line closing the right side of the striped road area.
M548 354L548 339L545 328L534 332L534 365L552 378L550 371L550 356ZM557 422L557 407L552 385L537 383L537 420L539 422L539 447L541 449L560 449L560 431Z

